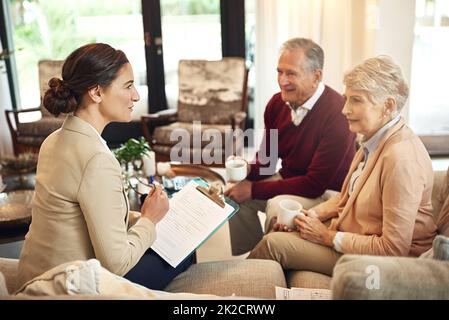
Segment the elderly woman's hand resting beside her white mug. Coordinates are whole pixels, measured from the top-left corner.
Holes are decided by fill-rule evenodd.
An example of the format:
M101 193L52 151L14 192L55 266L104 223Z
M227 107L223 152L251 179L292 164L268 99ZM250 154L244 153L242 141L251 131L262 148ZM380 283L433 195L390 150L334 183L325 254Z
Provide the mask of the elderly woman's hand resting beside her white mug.
M329 230L314 214L314 212L305 211L306 215L298 215L295 218L295 224L299 235L304 240L317 244L333 247L333 241L336 231Z

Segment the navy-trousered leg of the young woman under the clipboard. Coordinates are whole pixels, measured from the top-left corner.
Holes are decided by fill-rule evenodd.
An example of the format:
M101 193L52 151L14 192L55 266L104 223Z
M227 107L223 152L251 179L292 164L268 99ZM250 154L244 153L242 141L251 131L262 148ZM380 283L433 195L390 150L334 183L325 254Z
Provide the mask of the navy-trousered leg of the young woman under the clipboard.
M176 268L173 268L156 252L148 249L124 277L149 289L164 290L170 281L192 265L194 256L194 253L191 254Z

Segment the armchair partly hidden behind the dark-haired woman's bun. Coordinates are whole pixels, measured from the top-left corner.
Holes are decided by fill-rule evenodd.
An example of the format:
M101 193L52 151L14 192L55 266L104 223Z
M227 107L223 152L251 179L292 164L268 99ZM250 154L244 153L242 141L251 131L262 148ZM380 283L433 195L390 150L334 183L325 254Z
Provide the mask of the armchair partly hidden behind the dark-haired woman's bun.
M64 61L41 60L39 69L40 106L23 110L5 110L6 120L11 132L14 154L24 151L37 152L45 138L60 128L64 117L55 118L42 105L42 99L48 88L48 81L53 77L61 77ZM25 113L40 111L42 118L32 122L22 122Z

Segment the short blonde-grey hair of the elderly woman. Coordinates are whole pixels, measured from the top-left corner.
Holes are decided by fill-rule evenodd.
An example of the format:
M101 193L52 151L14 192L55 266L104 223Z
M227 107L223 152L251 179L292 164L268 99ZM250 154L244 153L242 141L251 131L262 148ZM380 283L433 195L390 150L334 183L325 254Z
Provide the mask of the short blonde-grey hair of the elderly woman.
M352 90L366 92L373 103L393 97L398 111L405 105L409 94L401 68L389 56L365 60L345 74L343 83Z

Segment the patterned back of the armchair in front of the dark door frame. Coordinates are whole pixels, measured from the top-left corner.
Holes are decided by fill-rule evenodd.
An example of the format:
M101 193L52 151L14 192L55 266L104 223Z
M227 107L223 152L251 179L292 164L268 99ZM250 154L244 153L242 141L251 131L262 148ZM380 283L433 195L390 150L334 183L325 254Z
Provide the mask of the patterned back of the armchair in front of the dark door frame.
M246 111L247 70L243 58L179 61L178 121L229 124Z

